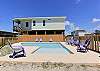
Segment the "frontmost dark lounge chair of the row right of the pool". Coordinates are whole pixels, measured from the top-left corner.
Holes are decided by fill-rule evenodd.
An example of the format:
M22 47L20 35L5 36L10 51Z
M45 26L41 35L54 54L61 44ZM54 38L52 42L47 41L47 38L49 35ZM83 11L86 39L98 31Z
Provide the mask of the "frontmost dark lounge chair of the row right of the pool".
M90 44L90 39L87 39L87 40L85 40L85 43L83 43L83 44L79 44L78 46L77 46L77 52L87 52L88 51L88 46L89 46L89 44Z

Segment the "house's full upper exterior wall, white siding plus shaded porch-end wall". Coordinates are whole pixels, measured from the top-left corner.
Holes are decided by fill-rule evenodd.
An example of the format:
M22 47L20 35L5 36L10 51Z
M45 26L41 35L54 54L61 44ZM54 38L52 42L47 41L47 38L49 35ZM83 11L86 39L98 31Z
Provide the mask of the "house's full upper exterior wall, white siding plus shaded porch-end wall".
M64 30L65 29L65 17L34 17L34 18L15 18L19 20L19 24L22 30ZM45 26L43 26L43 20L45 20ZM35 26L33 26L35 21ZM28 22L28 27L26 27Z

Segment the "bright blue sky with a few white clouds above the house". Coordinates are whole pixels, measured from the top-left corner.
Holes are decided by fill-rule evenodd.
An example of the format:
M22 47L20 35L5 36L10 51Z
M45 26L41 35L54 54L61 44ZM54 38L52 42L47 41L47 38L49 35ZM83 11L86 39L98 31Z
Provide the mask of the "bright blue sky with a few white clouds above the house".
M12 31L14 17L33 16L66 16L71 30L92 32L100 29L100 0L0 0L0 30Z

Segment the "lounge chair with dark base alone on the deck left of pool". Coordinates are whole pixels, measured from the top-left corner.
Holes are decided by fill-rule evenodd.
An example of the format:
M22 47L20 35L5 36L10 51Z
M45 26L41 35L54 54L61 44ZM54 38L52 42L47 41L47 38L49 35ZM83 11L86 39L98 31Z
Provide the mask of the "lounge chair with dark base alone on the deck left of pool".
M25 50L24 48L21 46L21 45L11 45L10 41L8 40L8 43L10 45L10 47L13 49L13 53L12 55L10 55L9 57L10 58L16 58L16 57L25 57L26 54L25 54ZM19 43L17 43L19 44Z

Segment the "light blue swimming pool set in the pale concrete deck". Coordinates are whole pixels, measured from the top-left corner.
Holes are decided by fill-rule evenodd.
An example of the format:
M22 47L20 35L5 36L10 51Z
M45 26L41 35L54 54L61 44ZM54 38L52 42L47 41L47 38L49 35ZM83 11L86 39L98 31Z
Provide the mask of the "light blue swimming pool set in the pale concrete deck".
M50 54L67 54L69 50L63 47L60 43L52 42L22 42L22 46L38 46L40 49L38 53L50 53Z

